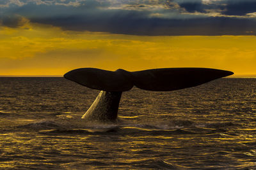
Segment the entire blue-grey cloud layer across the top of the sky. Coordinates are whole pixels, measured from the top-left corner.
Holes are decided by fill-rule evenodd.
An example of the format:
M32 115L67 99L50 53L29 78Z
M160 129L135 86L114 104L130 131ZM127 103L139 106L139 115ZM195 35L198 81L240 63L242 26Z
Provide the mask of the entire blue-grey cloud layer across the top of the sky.
M18 1L13 0L12 3ZM3 15L22 16L28 18L31 23L54 25L70 31L149 36L256 34L253 32L256 28L253 8L256 6L252 8L255 3L248 0L20 0L19 2L21 6L3 8ZM244 8L240 8L238 4L242 4ZM240 10L236 11L238 8ZM0 17L0 19L2 25L8 27L22 24L15 17Z

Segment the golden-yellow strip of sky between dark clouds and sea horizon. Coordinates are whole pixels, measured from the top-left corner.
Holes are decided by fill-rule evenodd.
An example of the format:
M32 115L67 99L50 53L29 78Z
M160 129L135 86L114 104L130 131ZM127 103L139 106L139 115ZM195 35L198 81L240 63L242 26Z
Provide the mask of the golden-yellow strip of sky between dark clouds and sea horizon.
M77 67L212 67L256 74L255 44L255 36L129 36L28 23L0 27L0 75L62 75Z

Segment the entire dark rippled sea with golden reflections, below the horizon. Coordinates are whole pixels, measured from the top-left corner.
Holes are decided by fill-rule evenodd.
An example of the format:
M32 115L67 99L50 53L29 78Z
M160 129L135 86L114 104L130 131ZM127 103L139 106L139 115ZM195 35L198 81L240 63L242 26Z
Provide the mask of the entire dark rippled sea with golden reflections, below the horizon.
M256 169L256 79L124 92L116 124L83 122L99 91L0 78L0 167Z

